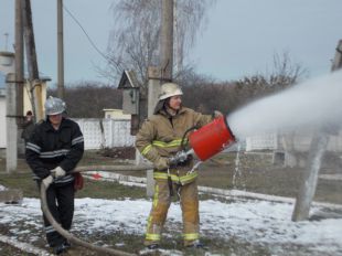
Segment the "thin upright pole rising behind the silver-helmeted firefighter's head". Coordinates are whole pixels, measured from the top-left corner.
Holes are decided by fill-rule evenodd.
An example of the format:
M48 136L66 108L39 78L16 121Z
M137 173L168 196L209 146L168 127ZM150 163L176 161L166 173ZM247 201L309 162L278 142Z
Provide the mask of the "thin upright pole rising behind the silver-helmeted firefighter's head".
M60 98L64 98L63 0L57 0L57 55L58 55L57 95Z

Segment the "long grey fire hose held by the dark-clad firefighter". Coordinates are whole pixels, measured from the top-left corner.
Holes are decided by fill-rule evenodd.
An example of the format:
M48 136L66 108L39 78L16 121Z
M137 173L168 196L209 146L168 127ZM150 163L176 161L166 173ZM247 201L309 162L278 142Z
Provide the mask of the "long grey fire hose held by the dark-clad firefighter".
M83 171L90 171L90 170L107 170L107 171L138 171L138 170L149 170L151 169L151 166L93 166L93 167L77 167L74 172L83 172ZM56 220L51 214L47 202L46 202L46 190L49 185L45 186L44 183L41 183L41 202L42 202L42 211L51 225L66 239L68 239L71 243L74 243L76 245L79 245L82 247L89 248L92 250L98 252L98 253L105 253L109 255L117 255L117 256L132 256L136 254L129 254L122 250L113 249L108 247L101 247L94 244L90 244L88 242L82 241L77 237L75 237L73 234L71 234L68 231L64 230L60 223L56 222Z

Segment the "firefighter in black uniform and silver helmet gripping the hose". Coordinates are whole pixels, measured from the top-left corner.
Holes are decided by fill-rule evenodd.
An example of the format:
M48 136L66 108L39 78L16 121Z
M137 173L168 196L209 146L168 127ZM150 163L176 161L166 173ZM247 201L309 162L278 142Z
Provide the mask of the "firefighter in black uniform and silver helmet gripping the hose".
M74 177L71 171L82 159L84 139L78 125L63 117L65 103L49 97L45 103L46 119L35 126L26 143L26 161L39 188L49 186L49 209L61 226L68 231L74 215ZM45 216L44 226L49 245L54 254L67 250L70 243L60 235Z

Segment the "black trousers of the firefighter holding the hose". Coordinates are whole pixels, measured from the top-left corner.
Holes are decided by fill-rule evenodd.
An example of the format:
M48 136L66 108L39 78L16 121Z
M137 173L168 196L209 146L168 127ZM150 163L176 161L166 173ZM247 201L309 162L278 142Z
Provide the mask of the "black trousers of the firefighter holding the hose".
M51 184L46 191L47 206L57 223L68 231L72 227L74 216L75 190L74 182L65 185ZM51 247L61 245L65 238L56 232L43 214L45 234Z

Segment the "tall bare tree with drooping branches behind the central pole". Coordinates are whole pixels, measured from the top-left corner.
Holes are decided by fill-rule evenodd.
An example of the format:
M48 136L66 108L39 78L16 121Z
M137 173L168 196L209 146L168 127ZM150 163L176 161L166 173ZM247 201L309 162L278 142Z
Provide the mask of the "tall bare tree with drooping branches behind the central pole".
M193 45L206 9L213 2L214 0L177 0L174 54L178 72L182 70L185 53ZM148 66L159 64L161 1L120 0L111 9L116 25L109 36L108 65L101 75L117 79L124 70L133 70L143 87L147 84Z

